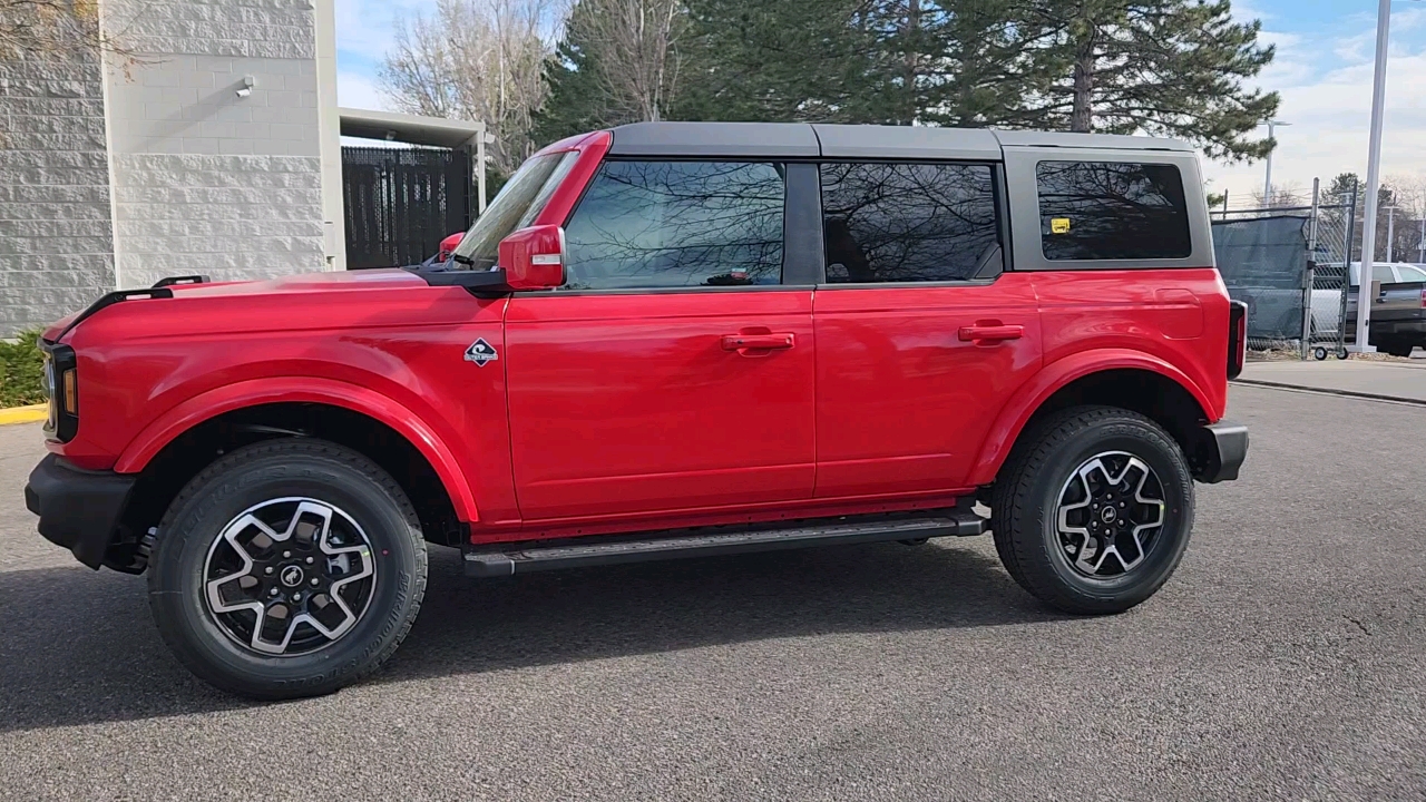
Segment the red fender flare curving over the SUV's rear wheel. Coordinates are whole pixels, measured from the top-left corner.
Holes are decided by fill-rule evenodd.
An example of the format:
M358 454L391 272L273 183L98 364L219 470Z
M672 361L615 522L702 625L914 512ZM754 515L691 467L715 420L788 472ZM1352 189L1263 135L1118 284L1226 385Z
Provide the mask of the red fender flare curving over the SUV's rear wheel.
M1128 348L1097 348L1094 351L1081 351L1041 368L1032 380L1021 385L1010 401L1001 407L1000 414L995 417L995 422L991 424L990 431L981 444L980 452L975 458L975 467L971 469L967 484L987 485L995 481L995 474L1000 472L1000 467L1005 462L1005 458L1010 457L1010 450L1015 445L1015 440L1020 437L1020 432L1025 428L1025 424L1030 422L1035 410L1040 410L1040 407L1051 395L1058 392L1071 381L1112 370L1144 370L1156 372L1174 380L1179 387L1186 390L1189 395L1194 397L1194 401L1198 402L1199 408L1204 410L1205 415L1208 414L1208 410L1214 408L1208 400L1208 394L1204 392L1204 388L1199 387L1198 382L1159 357Z

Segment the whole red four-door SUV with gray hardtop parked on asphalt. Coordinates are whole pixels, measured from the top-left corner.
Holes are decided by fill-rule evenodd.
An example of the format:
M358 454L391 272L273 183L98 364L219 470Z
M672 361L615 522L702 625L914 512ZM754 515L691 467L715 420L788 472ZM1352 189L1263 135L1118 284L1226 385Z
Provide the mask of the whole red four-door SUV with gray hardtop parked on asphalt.
M1248 448L1202 186L1137 137L568 138L441 268L180 277L56 324L26 501L258 698L391 656L428 544L519 577L992 529L1047 605L1119 612Z

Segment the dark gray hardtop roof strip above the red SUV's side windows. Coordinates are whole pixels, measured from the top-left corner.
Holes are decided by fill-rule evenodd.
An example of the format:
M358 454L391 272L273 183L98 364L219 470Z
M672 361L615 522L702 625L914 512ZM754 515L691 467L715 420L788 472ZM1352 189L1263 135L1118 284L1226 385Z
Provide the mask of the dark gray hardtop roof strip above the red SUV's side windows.
M1189 151L1178 140L1117 134L994 131L821 123L633 123L613 128L610 156L696 158L958 158L1000 161L1004 147Z

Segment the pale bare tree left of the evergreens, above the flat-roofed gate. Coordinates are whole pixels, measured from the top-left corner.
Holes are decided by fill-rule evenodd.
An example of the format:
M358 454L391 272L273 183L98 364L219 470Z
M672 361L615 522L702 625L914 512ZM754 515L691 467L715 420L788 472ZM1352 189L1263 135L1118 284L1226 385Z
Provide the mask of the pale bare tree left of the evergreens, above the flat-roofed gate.
M542 26L558 0L439 0L431 16L399 24L378 73L401 111L483 120L495 134L491 164L509 174L532 151L532 116L548 91L550 53Z

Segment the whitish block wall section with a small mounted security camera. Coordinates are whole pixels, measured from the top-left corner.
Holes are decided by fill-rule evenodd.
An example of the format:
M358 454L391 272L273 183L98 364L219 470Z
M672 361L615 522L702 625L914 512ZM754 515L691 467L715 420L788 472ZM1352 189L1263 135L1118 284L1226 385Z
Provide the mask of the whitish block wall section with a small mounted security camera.
M312 0L108 0L117 281L328 268ZM240 96L251 78L251 91Z

